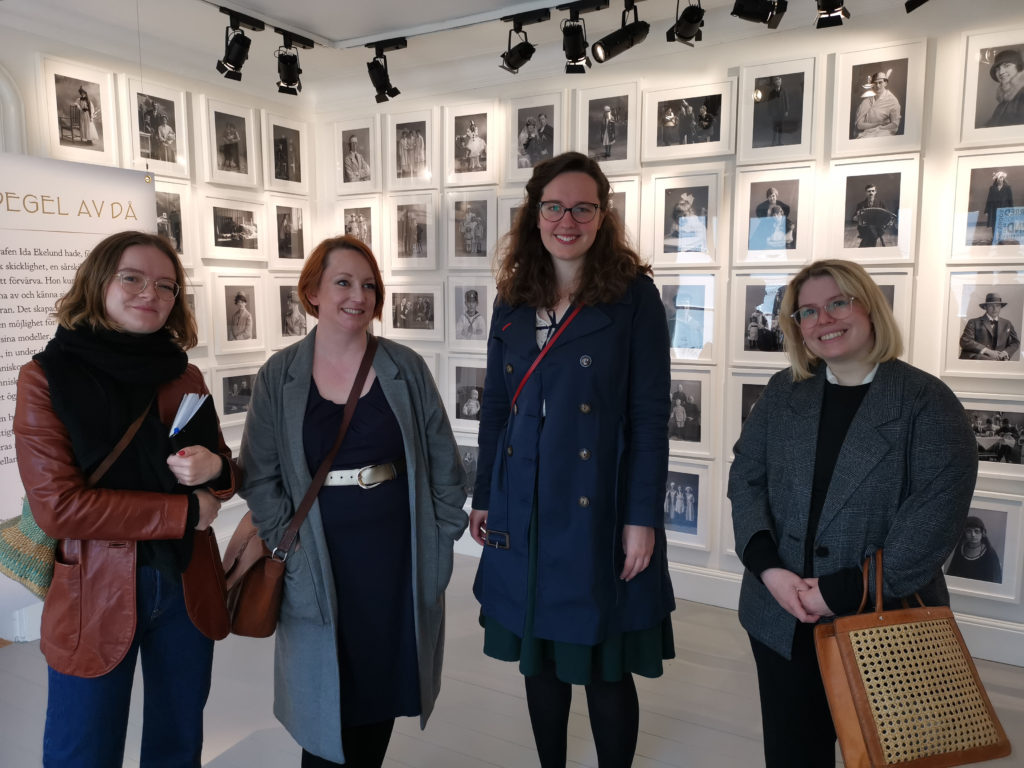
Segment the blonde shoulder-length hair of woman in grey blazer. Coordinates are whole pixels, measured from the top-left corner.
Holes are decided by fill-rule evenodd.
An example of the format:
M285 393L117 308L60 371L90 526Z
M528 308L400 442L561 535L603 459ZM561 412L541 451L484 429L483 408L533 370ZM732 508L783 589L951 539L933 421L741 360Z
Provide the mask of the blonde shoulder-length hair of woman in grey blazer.
M817 366L817 358L804 345L800 324L791 316L797 311L800 289L811 278L831 278L844 295L854 297L867 311L867 317L874 332L874 344L868 353L868 362L873 366L896 359L903 353L903 337L896 326L892 307L886 301L882 289L871 280L871 275L864 270L864 267L844 259L815 261L797 272L790 281L779 307L778 322L782 329L785 354L790 358L794 381L810 379L814 376L813 369Z

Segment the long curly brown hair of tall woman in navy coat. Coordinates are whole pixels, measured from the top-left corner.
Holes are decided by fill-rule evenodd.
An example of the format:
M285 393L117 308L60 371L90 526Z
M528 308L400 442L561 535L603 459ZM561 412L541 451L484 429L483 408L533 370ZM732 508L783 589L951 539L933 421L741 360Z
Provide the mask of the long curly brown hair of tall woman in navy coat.
M626 239L618 216L608 215L610 184L597 161L577 152L567 152L534 168L526 182L526 196L512 228L499 248L498 296L517 306L545 307L558 303L558 281L551 256L541 242L538 216L544 188L563 173L586 173L597 182L597 199L602 221L587 252L580 274L580 285L572 296L577 304L602 304L617 301L638 274L650 274L648 264Z

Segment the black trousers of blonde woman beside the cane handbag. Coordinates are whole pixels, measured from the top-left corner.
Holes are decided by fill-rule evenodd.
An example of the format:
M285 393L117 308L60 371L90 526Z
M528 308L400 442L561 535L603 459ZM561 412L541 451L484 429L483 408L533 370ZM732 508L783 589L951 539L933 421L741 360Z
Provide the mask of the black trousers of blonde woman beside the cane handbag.
M814 626L798 624L793 659L751 638L767 768L835 768L836 728L818 672Z

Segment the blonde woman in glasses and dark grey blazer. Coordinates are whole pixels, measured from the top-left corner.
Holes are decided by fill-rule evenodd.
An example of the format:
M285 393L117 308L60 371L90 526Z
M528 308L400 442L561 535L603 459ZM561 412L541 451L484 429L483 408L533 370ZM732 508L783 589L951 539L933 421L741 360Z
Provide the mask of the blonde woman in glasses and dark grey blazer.
M817 261L779 313L790 367L733 447L729 499L745 566L768 768L835 766L836 731L813 627L857 609L860 565L886 552L887 600L948 604L941 566L977 476L974 433L941 381L897 359L882 291L850 261ZM873 584L871 590L873 590Z

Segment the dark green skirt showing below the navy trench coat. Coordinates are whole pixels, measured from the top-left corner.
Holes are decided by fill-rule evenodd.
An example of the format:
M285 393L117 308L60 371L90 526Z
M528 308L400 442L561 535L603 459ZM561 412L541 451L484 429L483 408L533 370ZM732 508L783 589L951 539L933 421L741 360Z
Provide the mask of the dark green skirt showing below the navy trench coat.
M523 635L519 637L493 616L481 614L483 652L502 662L518 662L519 671L526 676L540 674L545 662L554 662L558 679L573 685L588 685L593 678L614 683L628 673L660 677L664 671L662 662L676 657L671 616L666 616L655 627L611 635L597 645L545 640L534 635L534 613L537 607L537 529L538 511L535 505L529 523L529 572L526 581L526 621Z

